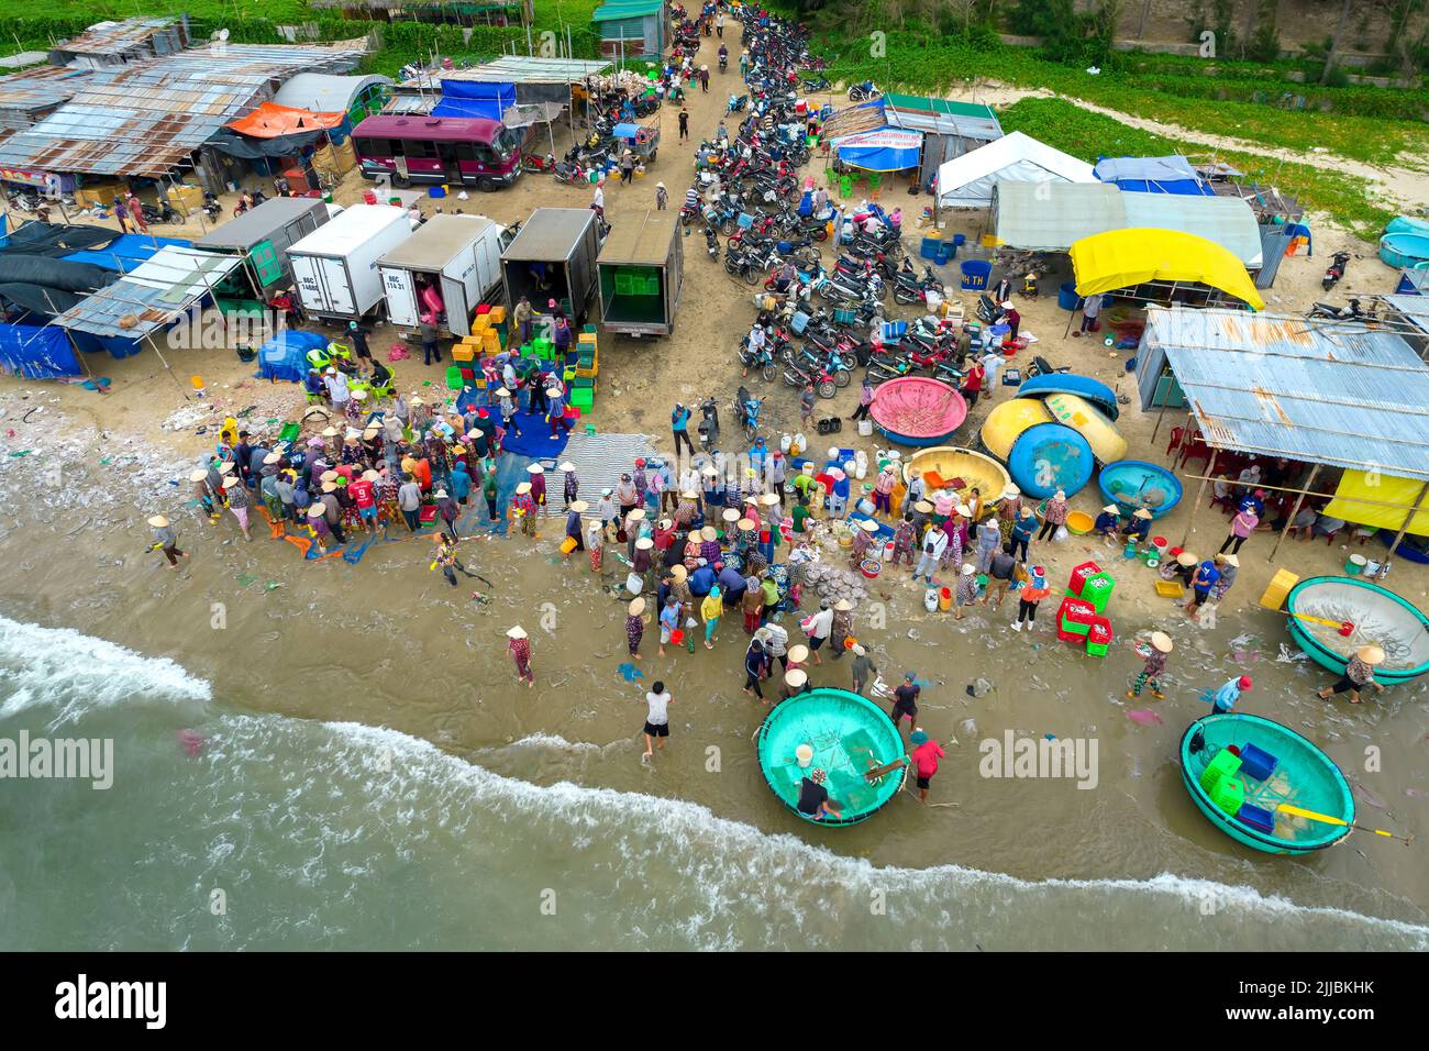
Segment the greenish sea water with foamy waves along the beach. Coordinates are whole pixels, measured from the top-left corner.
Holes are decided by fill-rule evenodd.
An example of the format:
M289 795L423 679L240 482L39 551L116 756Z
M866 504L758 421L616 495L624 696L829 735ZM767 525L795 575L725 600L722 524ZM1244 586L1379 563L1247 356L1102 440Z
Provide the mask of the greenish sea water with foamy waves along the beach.
M0 949L1429 947L1425 927L1169 874L880 868L246 711L173 661L0 618L0 738L21 731L111 739L114 779L0 782Z

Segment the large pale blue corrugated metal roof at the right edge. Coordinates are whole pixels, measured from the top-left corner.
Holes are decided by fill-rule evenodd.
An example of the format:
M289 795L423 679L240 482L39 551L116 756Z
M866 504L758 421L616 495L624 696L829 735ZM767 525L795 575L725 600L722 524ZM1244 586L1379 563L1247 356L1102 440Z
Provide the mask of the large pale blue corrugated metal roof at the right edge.
M1162 350L1212 446L1429 480L1429 365L1386 329L1150 306Z

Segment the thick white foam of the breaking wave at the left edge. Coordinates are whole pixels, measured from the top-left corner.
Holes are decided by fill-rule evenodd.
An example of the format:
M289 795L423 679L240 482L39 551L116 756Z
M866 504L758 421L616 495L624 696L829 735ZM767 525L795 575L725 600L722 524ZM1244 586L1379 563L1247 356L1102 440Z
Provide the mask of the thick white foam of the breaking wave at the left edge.
M44 705L51 725L139 698L209 701L211 689L169 658L0 616L0 716Z

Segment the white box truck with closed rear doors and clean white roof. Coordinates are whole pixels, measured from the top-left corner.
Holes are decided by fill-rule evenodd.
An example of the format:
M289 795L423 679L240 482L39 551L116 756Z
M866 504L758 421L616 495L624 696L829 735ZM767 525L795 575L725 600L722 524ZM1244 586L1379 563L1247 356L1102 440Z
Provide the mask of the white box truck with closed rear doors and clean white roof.
M406 210L353 204L287 250L303 310L357 320L383 302L377 260L412 236Z

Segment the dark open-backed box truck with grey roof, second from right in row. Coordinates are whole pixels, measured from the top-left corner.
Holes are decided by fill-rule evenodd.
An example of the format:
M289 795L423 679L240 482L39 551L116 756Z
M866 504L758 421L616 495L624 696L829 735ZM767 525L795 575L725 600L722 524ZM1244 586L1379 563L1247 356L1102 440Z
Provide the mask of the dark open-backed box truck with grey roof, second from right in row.
M596 213L586 207L539 207L532 212L502 253L506 297L514 309L522 296L536 313L554 299L570 302L572 320L586 320L586 303L596 285L600 233Z

